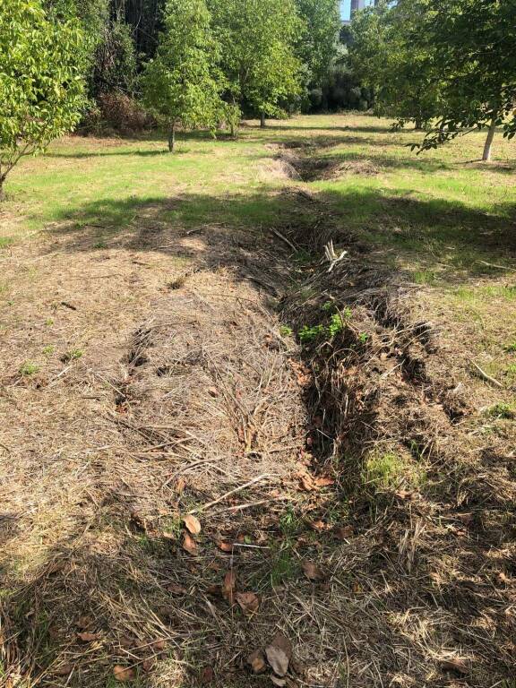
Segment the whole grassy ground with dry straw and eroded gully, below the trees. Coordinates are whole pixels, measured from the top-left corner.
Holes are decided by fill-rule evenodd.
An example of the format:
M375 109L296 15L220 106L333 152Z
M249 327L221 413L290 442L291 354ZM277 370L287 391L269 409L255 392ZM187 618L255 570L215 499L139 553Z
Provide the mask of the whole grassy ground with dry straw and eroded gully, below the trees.
M417 141L299 116L16 168L0 684L266 685L280 630L288 685L512 687L516 151Z

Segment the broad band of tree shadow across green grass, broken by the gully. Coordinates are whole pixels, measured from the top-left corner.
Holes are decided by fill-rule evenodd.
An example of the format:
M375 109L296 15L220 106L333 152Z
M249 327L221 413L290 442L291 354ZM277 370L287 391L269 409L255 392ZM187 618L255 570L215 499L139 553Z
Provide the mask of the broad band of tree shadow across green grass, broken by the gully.
M498 268L511 269L516 258L516 217L512 203L500 204L495 213L471 209L458 202L421 199L410 191L324 190L323 202L334 212L340 241L356 241L400 254L417 262L439 265L450 280L471 275L499 277ZM89 251L95 247L131 247L151 251L174 250L169 234L180 229L200 230L210 239L211 225L260 234L262 228L291 227L296 241L305 235L317 215L316 208L300 204L295 189L284 193L248 193L225 197L185 193L173 199L156 196L122 201L96 201L66 208L56 216L52 233L64 239L64 250ZM340 228L342 228L340 230ZM302 243L300 241L299 243ZM167 244L166 248L161 246Z

